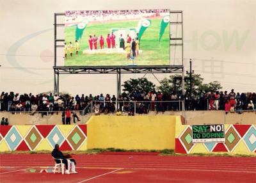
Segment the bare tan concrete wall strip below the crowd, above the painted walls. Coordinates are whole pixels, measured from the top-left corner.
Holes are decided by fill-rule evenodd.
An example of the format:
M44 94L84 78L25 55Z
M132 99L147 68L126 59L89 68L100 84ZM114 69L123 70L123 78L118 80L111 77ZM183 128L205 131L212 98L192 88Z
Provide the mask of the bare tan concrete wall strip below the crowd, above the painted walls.
M77 115L79 115L77 113ZM150 116L156 115L155 112L150 111L148 114ZM256 113L255 112L245 112L241 115L237 113L228 113L225 115L224 111L185 111L185 112L177 112L177 111L166 111L164 114L157 114L157 116L166 116L166 115L175 115L175 116L184 116L187 124L254 124L256 125ZM42 116L40 114L35 114L31 116L29 114L19 114L12 115L12 113L0 113L0 118L4 116L8 118L11 125L34 125L34 124L54 124L61 125L61 113L54 113L54 115ZM111 115L113 116L113 115ZM115 115L114 115L115 116ZM141 115L137 115L141 116ZM90 115L88 116L79 116L81 118L81 122L86 123ZM71 119L71 123L73 120Z

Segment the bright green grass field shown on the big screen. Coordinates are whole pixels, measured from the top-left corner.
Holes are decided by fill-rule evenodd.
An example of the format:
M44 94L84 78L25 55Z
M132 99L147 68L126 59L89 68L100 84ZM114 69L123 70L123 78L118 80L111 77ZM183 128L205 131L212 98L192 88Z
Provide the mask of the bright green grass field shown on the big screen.
M167 26L162 40L159 42L161 19L153 19L151 23L141 38L140 50L143 52L134 61L136 65L170 65L170 28ZM98 38L103 35L104 46L106 47L106 35L110 33L111 28L136 28L137 26L138 20L88 24L81 38L79 56L74 54L76 52L74 49L73 56L70 57L68 54L67 59L65 59L65 66L131 65L132 61L127 60L126 54L83 54L83 51L88 49L89 35L96 34ZM72 42L75 45L75 34L76 26L66 27L65 42Z

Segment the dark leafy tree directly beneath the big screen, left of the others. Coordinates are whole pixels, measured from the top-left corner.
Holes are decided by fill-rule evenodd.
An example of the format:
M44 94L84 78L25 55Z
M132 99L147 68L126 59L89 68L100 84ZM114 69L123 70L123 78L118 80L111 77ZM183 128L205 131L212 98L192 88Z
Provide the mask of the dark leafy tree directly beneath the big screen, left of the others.
M151 81L148 81L147 78L130 78L129 80L125 81L124 84L122 84L122 86L124 86L123 91L127 94L131 94L135 91L144 91L148 93L150 91L156 90L156 85Z

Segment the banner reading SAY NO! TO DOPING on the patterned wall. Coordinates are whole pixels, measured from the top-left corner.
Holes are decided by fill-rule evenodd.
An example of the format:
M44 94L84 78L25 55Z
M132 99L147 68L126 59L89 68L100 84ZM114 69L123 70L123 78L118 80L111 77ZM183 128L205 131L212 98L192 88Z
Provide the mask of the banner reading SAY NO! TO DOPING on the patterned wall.
M225 142L224 125L192 125L192 142Z

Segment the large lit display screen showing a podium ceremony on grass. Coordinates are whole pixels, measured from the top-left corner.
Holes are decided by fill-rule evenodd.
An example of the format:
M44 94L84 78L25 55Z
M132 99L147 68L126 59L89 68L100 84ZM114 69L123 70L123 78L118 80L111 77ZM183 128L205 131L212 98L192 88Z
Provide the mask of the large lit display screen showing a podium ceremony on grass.
M170 65L170 10L65 12L65 66Z

